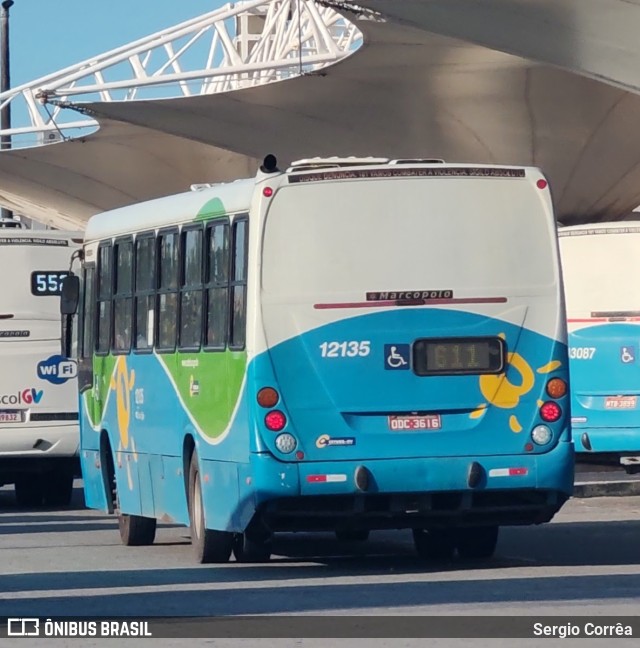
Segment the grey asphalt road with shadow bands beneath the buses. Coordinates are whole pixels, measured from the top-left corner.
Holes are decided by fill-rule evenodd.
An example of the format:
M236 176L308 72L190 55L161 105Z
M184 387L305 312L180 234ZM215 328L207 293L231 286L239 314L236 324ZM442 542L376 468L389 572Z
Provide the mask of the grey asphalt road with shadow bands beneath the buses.
M161 526L152 547L123 547L114 519L84 509L80 489L69 510L33 512L17 509L11 489L3 488L0 549L0 616L618 616L640 610L640 497L571 500L550 524L503 529L496 556L484 563L426 566L408 533L379 532L355 546L329 534L283 535L269 564L211 566L194 564L183 527ZM79 645L46 645L65 641ZM173 641L154 644L181 645ZM249 639L215 645L229 642L258 645ZM278 640L285 645L300 642Z

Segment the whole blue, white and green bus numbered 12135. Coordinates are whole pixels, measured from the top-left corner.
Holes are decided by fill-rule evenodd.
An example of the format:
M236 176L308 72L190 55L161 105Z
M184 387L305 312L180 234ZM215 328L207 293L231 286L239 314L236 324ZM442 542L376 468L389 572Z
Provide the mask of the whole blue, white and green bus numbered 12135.
M488 557L572 492L538 169L268 156L93 217L83 263L85 497L125 544L173 521L200 562L255 561L275 532L407 528Z

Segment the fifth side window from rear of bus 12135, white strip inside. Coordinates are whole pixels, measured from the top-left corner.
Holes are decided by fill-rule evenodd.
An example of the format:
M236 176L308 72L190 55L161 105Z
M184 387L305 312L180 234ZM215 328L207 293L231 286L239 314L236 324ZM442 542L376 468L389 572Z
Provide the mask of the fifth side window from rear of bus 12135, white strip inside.
M136 238L135 337L136 350L153 348L156 289L156 238L141 234Z

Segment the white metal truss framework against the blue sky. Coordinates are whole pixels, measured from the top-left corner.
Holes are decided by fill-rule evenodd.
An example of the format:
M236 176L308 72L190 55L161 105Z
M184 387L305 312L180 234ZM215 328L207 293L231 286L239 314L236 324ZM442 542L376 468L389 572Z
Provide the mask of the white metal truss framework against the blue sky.
M208 95L314 74L361 43L353 24L314 0L230 3L0 94L0 109L20 124L0 130L0 141L23 148L87 135L98 124L83 102Z

